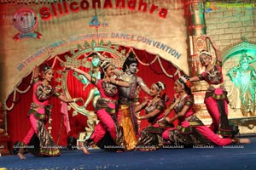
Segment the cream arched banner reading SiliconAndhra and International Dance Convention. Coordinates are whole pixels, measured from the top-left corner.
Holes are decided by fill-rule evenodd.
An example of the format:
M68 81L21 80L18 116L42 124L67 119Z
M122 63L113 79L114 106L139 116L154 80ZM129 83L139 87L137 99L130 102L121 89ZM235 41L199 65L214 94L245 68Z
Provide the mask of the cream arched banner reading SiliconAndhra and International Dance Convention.
M21 78L49 57L49 52L54 56L84 41L103 40L143 49L189 73L181 0L17 2L1 4L4 89L0 101L7 99Z

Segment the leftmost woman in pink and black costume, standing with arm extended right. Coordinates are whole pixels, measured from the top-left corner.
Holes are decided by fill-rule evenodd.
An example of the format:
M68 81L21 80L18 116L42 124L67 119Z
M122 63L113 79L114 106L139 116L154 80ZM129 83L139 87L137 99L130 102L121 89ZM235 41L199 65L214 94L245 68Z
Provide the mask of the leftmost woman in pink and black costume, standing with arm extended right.
M82 98L67 99L65 95L59 93L56 88L50 85L54 77L54 70L51 67L44 66L43 81L38 81L38 72L37 67L33 71L35 84L33 86L32 104L28 112L28 118L32 127L20 145L18 152L20 159L26 159L23 155L24 148L27 148L34 156L61 155L60 150L45 127L49 119L50 108L52 107L49 103L51 96L55 96L66 103L83 101Z

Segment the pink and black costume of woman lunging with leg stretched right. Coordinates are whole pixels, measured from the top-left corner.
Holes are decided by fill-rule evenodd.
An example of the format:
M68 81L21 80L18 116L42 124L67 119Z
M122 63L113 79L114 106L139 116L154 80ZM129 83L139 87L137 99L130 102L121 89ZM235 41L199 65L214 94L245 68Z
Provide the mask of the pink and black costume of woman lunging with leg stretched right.
M205 126L200 119L194 115L192 106L194 105L193 95L187 95L181 99L174 107L176 113L182 111L183 106L189 106L189 110L184 116L178 117L180 125L167 129L162 137L167 144L195 146L195 145L227 145L232 144L230 138L220 138L212 130Z

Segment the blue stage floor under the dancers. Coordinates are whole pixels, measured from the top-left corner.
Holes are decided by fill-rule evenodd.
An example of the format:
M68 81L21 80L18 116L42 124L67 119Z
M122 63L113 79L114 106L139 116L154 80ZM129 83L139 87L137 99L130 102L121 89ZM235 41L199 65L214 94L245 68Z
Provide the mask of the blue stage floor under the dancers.
M61 156L34 157L1 156L2 169L252 169L256 168L256 138L252 144L225 147L161 149L148 152L123 153L91 149L90 155L81 150L61 150ZM5 168L3 168L5 167Z

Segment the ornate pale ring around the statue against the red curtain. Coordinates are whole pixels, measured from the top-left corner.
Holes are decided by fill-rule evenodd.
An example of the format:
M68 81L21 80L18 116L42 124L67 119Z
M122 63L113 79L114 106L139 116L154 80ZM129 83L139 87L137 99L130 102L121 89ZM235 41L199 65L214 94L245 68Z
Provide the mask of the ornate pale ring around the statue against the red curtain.
M93 46L93 47L86 47L86 48L79 48L76 53L73 53L71 57L66 56L66 62L62 62L61 65L73 65L74 67L84 67L90 68L91 62L88 60L88 56L92 53L99 52L104 57L108 58L113 62L116 67L121 67L123 62L125 61L125 51L119 52L117 47L110 47L110 46ZM68 82L68 71L62 72L61 76L61 86L63 89L63 93L67 96L68 99L73 98L70 93L70 90L67 86ZM82 83L82 82L81 82ZM86 87L88 88L88 87ZM83 89L78 89L83 90ZM88 94L85 94L87 97ZM84 99L85 100L85 99ZM95 111L88 111L84 107L84 105L78 105L77 103L69 103L69 105L73 108L73 116L76 116L78 113L84 116L87 116L87 126L85 127L86 130L86 138L89 137L89 133L92 133L96 123L98 122Z

